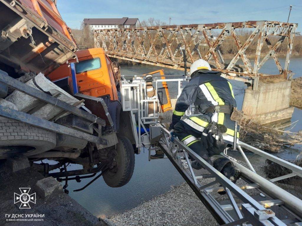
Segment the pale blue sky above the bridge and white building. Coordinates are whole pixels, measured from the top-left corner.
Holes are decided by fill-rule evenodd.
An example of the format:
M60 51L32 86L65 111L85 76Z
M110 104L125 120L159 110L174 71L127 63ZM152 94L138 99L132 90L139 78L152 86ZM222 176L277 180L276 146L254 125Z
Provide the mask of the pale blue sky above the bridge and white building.
M140 21L154 17L169 24L206 24L276 20L286 22L289 5L293 5L289 22L302 26L302 1L290 0L57 0L63 20L71 28L80 28L84 18L134 17ZM298 31L300 26L298 26Z

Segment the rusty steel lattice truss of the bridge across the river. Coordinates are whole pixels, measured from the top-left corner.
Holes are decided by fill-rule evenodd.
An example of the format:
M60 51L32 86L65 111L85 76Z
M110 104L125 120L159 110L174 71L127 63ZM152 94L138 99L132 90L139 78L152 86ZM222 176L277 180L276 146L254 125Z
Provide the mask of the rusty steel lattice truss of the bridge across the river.
M104 29L94 33L95 47L102 47L110 57L184 70L181 49L185 49L188 67L201 58L227 78L254 83L262 77L288 77L296 28L297 24L293 23L247 21ZM275 51L284 41L287 55L282 67ZM235 48L224 51L230 45ZM251 52L252 45L254 52ZM230 60L224 59L225 56ZM270 57L279 74L259 72Z

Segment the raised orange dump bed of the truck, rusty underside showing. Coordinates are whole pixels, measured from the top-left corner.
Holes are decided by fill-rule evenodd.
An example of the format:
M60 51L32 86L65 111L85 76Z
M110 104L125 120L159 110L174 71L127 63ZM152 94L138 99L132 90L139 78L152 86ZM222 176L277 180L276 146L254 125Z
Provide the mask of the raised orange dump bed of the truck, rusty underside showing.
M0 0L0 63L48 74L76 58L76 43L55 2Z

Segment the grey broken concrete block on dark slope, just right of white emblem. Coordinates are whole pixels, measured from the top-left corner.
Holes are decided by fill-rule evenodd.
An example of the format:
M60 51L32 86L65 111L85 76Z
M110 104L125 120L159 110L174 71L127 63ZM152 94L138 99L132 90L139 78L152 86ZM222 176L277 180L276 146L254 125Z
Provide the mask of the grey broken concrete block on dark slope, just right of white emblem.
M62 193L62 185L53 177L46 177L38 180L36 184L37 193L45 199L52 195Z

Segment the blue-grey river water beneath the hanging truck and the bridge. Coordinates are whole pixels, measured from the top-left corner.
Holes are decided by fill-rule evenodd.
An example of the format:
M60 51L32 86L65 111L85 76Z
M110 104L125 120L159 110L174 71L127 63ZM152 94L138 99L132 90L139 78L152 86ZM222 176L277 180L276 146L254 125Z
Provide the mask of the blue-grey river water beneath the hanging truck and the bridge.
M284 64L284 58L280 59L281 65ZM294 77L302 76L302 58L291 58L290 70L295 75ZM141 75L151 71L161 69L160 67L150 66L145 64L126 66L122 65L122 75ZM182 71L163 68L165 74L182 75ZM264 64L262 73L277 74L278 70L275 62L270 59ZM238 108L241 108L244 89L246 86L242 82L230 80L234 89L235 99ZM168 84L169 85L169 84ZM176 84L169 85L171 98L176 98ZM291 122L302 119L302 110L295 108ZM298 121L292 131L297 132L302 129L302 120ZM284 149L283 152L276 154L284 159L295 159L301 151L301 145ZM247 154L251 161L264 161L256 155ZM182 184L184 180L178 174L177 170L172 166L168 159L153 160L148 162L148 151L145 150L135 156L135 168L133 177L130 182L124 187L110 188L103 178L99 178L85 190L73 192L72 190L83 187L91 178L83 179L81 183L76 181L69 182L69 195L84 206L88 211L92 212L97 217L109 217L111 215L124 212L138 206L141 202L149 200L155 196L171 189L171 186ZM69 170L78 169L76 165L70 165Z

